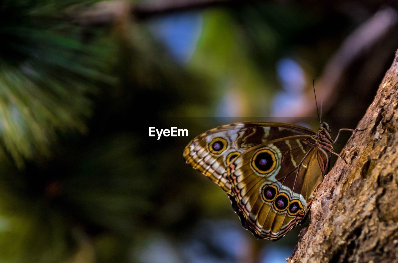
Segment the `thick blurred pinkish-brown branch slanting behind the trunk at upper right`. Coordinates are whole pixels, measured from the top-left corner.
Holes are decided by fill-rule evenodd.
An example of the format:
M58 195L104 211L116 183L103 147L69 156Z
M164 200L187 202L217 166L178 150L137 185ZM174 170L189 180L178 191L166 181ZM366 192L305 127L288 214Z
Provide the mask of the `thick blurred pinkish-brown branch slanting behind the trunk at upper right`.
M373 83L384 74L382 65L392 58L389 50L398 48L397 32L398 12L393 8L385 8L346 37L315 84L318 100L324 101L324 110L335 104L341 90L347 89L347 80L361 83L357 87L359 93L372 92ZM353 92L353 87L347 90ZM290 122L314 116L316 107L313 101L314 93L309 89L305 95L306 107L287 111L291 116Z

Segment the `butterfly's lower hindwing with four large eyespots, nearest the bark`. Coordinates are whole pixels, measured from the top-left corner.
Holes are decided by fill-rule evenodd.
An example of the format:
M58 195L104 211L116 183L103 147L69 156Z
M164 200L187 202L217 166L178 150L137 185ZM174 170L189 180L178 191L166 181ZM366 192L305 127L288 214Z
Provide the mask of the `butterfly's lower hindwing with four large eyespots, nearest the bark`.
M225 176L243 226L257 238L284 236L308 213L328 161L308 135L272 140L232 160Z

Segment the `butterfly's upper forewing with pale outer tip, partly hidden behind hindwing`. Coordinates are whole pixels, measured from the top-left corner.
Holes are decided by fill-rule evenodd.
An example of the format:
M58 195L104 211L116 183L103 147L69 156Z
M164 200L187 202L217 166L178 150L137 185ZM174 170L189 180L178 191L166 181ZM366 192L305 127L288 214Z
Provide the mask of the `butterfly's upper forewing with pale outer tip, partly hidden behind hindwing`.
M211 129L195 137L184 149L183 157L194 169L231 193L228 164L248 149L277 138L314 131L297 125L276 122L233 123Z

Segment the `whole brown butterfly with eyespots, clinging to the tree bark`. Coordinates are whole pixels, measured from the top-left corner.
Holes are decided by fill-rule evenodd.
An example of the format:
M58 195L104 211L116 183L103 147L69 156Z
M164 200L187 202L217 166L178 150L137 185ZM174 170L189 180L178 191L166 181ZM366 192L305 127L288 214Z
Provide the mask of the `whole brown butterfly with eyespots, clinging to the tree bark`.
M357 131L341 129L340 131ZM339 131L339 134L340 134ZM230 197L244 228L278 240L308 214L328 172L328 124L318 131L277 122L232 123L194 138L183 157Z

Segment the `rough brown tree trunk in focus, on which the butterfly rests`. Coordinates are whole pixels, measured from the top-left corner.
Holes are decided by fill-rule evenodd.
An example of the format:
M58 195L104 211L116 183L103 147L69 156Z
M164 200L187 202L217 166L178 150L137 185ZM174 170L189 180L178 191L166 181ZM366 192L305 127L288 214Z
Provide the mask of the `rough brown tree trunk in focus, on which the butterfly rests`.
M353 110L355 110L353 101ZM398 51L287 262L398 262Z

